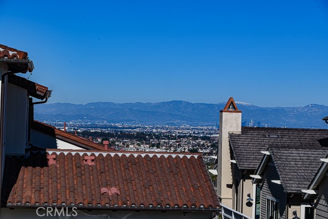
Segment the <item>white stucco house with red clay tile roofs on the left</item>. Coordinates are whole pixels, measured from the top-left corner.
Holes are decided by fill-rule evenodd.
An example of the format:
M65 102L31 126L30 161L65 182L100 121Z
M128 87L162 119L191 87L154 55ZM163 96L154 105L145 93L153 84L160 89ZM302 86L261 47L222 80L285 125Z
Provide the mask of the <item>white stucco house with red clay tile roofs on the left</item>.
M34 121L33 106L51 91L13 75L32 70L26 52L0 45L1 218L217 216L220 203L200 153L105 150Z

